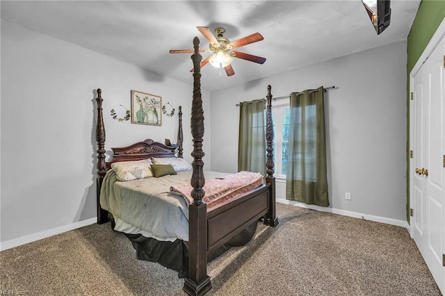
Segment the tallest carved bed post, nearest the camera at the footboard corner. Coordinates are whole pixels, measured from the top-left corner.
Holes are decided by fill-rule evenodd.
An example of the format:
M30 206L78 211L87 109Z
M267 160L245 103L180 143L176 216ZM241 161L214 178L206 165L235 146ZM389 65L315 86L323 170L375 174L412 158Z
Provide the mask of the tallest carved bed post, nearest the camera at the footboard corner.
M189 295L204 295L211 289L207 275L207 204L202 201L204 192L204 162L202 157L202 137L204 136L204 111L202 110L201 73L202 56L199 53L200 40L193 39L195 53L193 60L193 102L191 112L191 132L193 135L193 172L191 196L193 202L188 206L188 276L184 279L184 291Z

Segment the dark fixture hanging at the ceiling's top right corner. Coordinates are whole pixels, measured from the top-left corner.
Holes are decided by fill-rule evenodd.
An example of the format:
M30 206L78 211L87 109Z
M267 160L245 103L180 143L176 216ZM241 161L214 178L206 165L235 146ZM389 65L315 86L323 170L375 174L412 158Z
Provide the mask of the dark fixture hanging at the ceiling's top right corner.
M362 0L377 35L385 31L391 22L390 0Z

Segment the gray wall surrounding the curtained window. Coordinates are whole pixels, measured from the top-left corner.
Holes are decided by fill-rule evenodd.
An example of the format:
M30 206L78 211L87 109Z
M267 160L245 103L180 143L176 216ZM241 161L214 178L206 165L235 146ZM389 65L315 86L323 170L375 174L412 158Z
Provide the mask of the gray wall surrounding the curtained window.
M239 101L265 97L268 84L275 97L335 85L325 101L327 211L404 224L406 60L406 42L400 41L211 92L211 170L237 170ZM284 188L277 184L277 198L285 199Z

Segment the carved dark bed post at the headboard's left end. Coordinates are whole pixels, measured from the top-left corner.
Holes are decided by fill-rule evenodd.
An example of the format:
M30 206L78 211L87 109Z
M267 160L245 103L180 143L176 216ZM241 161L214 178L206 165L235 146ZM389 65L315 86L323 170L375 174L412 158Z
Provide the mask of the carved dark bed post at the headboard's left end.
M97 140L97 223L102 224L108 222L108 211L105 211L100 206L100 188L102 186L102 181L106 174L106 163L105 163L105 125L104 125L104 115L102 114L102 90L97 88L97 126L96 126L96 140Z

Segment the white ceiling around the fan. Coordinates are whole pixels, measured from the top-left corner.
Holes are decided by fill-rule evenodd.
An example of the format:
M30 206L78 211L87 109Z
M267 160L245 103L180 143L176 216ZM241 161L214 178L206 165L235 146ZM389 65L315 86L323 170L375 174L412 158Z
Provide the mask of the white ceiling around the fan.
M259 65L234 59L234 76L206 65L202 88L218 90L405 40L420 0L391 1L391 24L375 33L361 0L348 1L1 1L1 19L54 36L150 72L191 83L196 26L225 28L238 40L264 40L236 50L267 58ZM209 54L202 54L205 57Z

